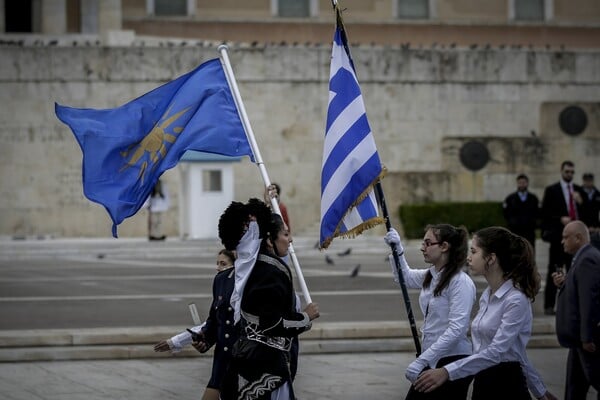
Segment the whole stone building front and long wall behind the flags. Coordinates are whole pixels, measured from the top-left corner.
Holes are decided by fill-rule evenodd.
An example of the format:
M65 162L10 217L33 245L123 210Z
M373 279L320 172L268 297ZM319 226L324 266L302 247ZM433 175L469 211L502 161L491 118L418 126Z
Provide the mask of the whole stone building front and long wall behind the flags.
M0 19L6 27L10 10L4 3L5 18ZM297 17L280 15L286 2L184 3L185 16L161 16L157 10L173 11L161 11L157 7L164 3L157 0L32 1L32 13L39 16L32 18L37 22L31 32L0 36L0 235L110 235L104 209L82 195L81 152L68 128L56 119L54 102L116 107L215 58L217 45L227 40L263 159L271 179L282 186L294 232L317 236L333 33L330 4L306 2L302 12L308 10L309 15ZM238 3L244 8L236 9ZM575 162L576 181L583 172L600 176L600 49L594 44L600 35L588 35L585 42L586 35L573 33L597 32L597 2L581 2L578 10L587 12L580 20L569 17L570 8L559 0L531 2L538 6L528 13L539 18L526 21L517 17L525 11L516 1L486 2L497 6L479 11L479 2L466 0L406 2L410 6L392 1L340 3L347 8L367 113L388 169L383 187L390 210L413 202L501 201L522 172L530 176L531 190L541 196L545 185L558 180L565 159ZM43 8L41 14L35 11L50 5L54 8ZM95 10L94 18L83 11L89 9ZM397 15L400 10L423 15L423 9L427 18ZM360 18L352 15L359 11ZM491 14L484 18L485 13ZM69 15L78 16L79 22ZM196 29L210 23L236 25L239 36L169 33L168 25L182 25L184 20ZM62 21L58 29L56 21ZM241 29L247 23L255 23L257 36ZM148 24L154 31L135 24ZM269 39L262 40L261 24L312 24L315 36L294 39L271 31ZM361 26L371 29L363 31ZM443 34L420 44L412 39L417 36L408 34L390 43L370 36L364 40L363 32L377 27L381 32L495 27L504 32L497 37L505 41L494 44L481 40L484 36L469 36L470 40L445 42ZM506 36L517 28L532 29L538 36L545 31L542 36L548 42L526 44L527 36ZM551 31L563 36L550 41ZM184 202L178 196L186 188L178 168L165 174L173 204L166 218L169 236L180 234L183 214L178 205ZM249 160L235 163L233 175L235 199L262 197L260 174ZM126 220L120 235L146 235L142 214Z

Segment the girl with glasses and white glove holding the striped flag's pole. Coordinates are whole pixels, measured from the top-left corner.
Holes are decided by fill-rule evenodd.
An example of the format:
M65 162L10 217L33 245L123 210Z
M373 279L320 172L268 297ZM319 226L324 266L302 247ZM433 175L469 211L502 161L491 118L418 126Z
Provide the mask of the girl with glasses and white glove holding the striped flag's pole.
M444 366L471 354L467 338L471 309L475 302L475 285L462 271L468 249L468 232L448 224L429 225L421 244L427 269L412 269L406 263L402 242L391 229L385 241L395 243L400 253L402 275L408 288L421 289L419 305L425 317L421 328L423 353L406 369L406 378L414 383L419 374L430 368ZM397 269L392 271L398 282ZM471 377L447 382L430 393L411 386L406 399L466 399Z

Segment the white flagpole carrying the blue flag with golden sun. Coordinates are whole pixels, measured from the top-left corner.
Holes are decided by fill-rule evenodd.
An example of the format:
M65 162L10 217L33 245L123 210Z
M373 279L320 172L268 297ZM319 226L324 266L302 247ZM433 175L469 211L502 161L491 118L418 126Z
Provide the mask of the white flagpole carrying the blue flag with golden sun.
M252 131L252 127L250 126L248 114L246 114L246 108L244 108L244 103L242 102L242 96L240 95L235 76L233 75L233 69L231 68L231 64L229 62L229 55L227 54L227 45L220 45L217 48L217 51L219 52L221 65L223 66L223 70L225 71L227 83L229 84L229 88L233 93L235 105L237 106L238 113L240 114L240 118L242 120L242 124L244 125L246 137L248 138L248 142L250 142L252 153L254 153L254 160L256 160L256 165L258 165L258 169L260 170L260 174L265 183L265 188L268 188L269 186L271 186L271 181L269 179L269 175L267 174L267 168L265 167L265 164L263 163L262 157L260 155L258 144L256 143L256 139L254 138L254 132ZM279 204L277 203L277 200L275 198L271 198L271 207L273 211L281 215L281 211L279 210ZM288 248L288 253L290 255L292 263L294 264L294 269L296 270L296 276L298 278L300 288L302 289L302 295L304 296L304 300L306 301L306 304L310 304L312 303L312 299L310 297L310 294L308 293L308 287L306 286L304 275L302 274L302 270L300 269L300 263L298 262L298 258L296 257L294 246L291 243Z

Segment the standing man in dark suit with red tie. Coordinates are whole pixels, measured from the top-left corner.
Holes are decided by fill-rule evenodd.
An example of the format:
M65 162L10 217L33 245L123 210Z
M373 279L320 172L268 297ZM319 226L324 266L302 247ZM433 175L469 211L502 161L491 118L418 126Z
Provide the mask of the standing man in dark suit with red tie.
M556 286L552 273L571 265L571 256L563 251L561 236L563 228L571 221L579 219L578 207L583 201L581 186L573 184L575 164L563 161L560 166L560 181L547 186L542 198L542 239L550 243L548 273L544 289L544 312L554 314Z

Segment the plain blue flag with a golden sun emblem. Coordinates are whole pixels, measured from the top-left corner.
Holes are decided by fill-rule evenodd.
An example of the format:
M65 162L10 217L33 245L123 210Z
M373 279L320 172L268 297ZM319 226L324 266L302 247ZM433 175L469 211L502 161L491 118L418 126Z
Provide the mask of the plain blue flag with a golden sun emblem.
M134 215L186 150L254 156L218 59L120 107L56 104L83 153L83 193L117 225Z

